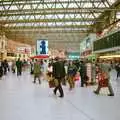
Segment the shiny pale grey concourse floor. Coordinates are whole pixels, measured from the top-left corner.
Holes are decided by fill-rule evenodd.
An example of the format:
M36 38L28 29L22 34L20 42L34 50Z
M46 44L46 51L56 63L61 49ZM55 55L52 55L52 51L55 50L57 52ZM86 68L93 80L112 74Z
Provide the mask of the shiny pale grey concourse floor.
M0 80L0 120L120 120L120 79L111 72L114 97L103 89L95 95L94 87L63 87L64 98L53 95L46 81L33 84L33 77L24 72L21 77L12 73Z

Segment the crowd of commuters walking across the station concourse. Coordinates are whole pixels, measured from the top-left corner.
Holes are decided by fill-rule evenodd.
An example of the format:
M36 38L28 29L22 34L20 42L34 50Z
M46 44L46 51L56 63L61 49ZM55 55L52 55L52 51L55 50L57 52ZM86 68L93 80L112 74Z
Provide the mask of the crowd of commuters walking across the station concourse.
M91 78L87 74L87 64L91 64ZM16 73L17 76L22 75L23 68L28 66L28 62L18 59L12 61L11 65L4 60L0 63L0 78L6 75L8 71ZM100 89L108 87L110 94L114 96L114 91L110 83L110 71L115 69L117 72L116 80L120 77L120 62L111 63L106 60L95 61L84 61L84 60L64 60L56 57L52 60L39 60L33 59L30 64L30 74L34 76L33 83L37 80L41 84L41 80L46 80L51 87L54 83L53 93L56 95L59 91L59 97L64 97L64 91L62 85L69 85L69 90L75 88L75 82L80 81L80 87L88 85L96 85L97 89L94 91L95 94L99 94Z

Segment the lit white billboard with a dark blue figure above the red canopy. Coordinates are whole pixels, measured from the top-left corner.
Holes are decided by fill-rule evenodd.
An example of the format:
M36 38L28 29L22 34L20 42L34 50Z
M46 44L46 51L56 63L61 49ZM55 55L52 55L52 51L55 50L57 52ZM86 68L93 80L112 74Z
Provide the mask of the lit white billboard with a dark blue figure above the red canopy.
M36 54L37 55L48 55L48 41L47 40L37 40Z

